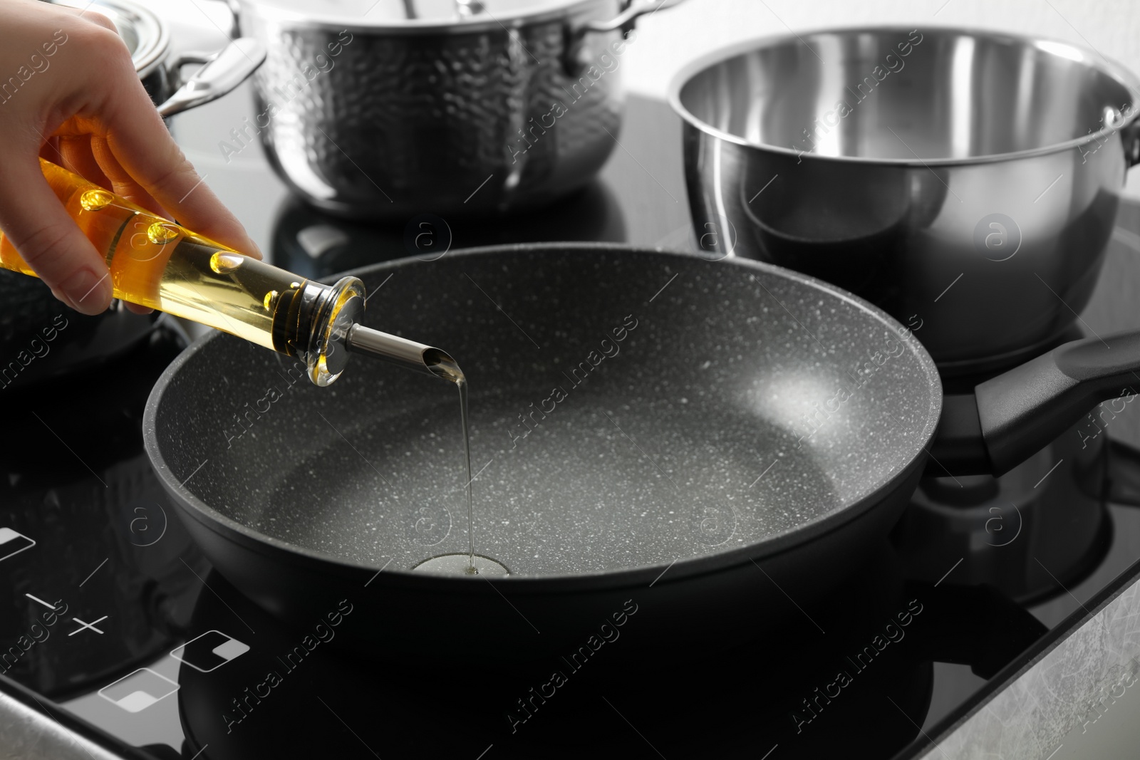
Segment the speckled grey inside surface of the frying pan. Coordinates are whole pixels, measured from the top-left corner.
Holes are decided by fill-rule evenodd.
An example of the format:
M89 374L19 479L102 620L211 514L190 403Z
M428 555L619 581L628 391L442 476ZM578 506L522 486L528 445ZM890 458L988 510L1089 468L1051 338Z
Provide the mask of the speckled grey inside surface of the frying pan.
M367 325L470 378L475 551L512 578L796 542L897 479L937 424L914 338L772 267L546 246L361 276L383 284ZM155 394L152 456L198 516L392 572L466 550L453 385L356 357L318 389L220 335Z

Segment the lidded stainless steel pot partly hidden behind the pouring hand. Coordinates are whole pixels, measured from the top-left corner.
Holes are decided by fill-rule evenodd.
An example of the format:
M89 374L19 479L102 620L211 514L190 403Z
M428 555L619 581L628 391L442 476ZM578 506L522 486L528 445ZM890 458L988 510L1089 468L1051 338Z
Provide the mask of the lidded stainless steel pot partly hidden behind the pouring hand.
M135 70L150 99L164 116L214 100L244 81L264 59L256 40L235 40L213 54L171 52L170 31L155 13L131 0L71 0L59 2L90 8L109 18L131 51ZM190 79L188 64L206 64ZM0 270L0 390L70 371L131 345L154 326L158 314L136 314L119 301L101 314L88 317L63 305L39 280ZM60 325L65 325L60 328ZM56 343L48 345L46 336ZM31 357L19 363L13 360ZM42 353L42 356L41 356Z

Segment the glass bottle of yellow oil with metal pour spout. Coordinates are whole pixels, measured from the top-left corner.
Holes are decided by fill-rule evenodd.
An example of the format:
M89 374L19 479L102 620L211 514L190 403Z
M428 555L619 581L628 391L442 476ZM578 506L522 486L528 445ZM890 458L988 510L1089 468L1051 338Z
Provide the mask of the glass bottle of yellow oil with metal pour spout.
M195 235L48 161L40 164L60 203L105 258L115 297L296 357L316 385L335 381L349 352L453 383L462 378L443 351L360 325L365 288L358 278L323 285L298 277ZM3 235L0 267L35 273Z

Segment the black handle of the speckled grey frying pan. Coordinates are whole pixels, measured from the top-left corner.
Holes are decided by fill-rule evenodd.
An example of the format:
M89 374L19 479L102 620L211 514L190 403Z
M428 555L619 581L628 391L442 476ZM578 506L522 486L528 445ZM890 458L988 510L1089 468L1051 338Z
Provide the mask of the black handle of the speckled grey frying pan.
M928 473L1003 475L1090 409L1140 387L1140 333L1091 337L948 395ZM945 471L945 472L942 472Z

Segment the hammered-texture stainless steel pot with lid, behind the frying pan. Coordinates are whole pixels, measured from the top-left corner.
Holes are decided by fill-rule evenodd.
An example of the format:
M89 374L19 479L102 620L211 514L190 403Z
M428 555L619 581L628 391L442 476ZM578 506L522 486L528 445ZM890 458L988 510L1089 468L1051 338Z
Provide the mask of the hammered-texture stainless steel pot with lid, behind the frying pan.
M340 215L537 206L605 162L634 21L677 1L234 0L269 58L231 147Z

